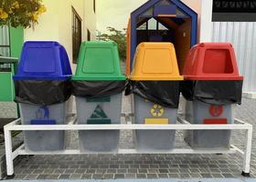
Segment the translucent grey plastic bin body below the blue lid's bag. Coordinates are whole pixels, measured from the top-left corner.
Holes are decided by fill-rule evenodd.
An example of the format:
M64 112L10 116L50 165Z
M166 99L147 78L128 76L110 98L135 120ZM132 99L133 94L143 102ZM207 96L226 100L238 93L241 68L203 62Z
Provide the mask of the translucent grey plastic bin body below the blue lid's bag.
M35 106L19 104L21 122L23 125L37 124L66 124L65 103L52 106ZM63 150L64 131L25 131L25 146L27 151Z

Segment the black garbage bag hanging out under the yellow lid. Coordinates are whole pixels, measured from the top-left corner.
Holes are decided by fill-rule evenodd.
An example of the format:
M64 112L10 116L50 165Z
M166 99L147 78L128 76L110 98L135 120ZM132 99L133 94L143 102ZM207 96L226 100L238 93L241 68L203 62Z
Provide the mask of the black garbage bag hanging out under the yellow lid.
M135 94L157 105L177 108L179 85L179 81L130 81L125 95Z

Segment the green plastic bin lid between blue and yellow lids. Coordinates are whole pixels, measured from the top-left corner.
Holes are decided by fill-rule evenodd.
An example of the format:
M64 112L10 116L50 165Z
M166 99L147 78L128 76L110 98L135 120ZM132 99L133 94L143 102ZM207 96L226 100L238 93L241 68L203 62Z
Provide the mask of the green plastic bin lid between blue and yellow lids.
M91 41L80 46L80 56L74 81L125 80L120 68L115 42Z

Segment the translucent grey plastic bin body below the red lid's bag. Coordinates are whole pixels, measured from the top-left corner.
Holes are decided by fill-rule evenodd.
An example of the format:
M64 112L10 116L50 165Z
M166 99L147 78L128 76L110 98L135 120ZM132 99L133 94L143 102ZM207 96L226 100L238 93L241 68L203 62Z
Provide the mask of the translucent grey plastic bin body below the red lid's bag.
M223 113L220 116L211 116L209 107L211 105L200 101L187 101L186 120L191 124L205 124L205 119L227 119L227 124L234 123L234 112L232 105L222 106ZM230 130L187 130L185 141L194 149L229 149Z

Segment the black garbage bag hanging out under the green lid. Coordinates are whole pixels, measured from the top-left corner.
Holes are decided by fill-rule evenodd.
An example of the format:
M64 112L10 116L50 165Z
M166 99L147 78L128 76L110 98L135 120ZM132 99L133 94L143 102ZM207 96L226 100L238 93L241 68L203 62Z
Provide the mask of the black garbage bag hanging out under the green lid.
M123 92L126 80L121 81L72 81L72 95L101 98Z

